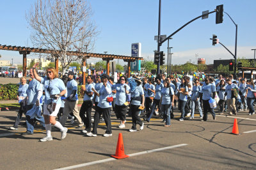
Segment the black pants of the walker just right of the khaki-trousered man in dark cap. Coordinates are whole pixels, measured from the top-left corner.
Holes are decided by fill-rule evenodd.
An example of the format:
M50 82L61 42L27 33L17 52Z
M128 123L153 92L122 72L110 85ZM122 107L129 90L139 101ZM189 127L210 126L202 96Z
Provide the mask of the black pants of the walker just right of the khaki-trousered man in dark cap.
M92 128L92 114L91 114L92 105L93 105L92 100L84 101L79 112L79 116L83 120L85 124L85 130L87 132L91 132L91 128ZM85 113L86 113L86 117L84 116Z

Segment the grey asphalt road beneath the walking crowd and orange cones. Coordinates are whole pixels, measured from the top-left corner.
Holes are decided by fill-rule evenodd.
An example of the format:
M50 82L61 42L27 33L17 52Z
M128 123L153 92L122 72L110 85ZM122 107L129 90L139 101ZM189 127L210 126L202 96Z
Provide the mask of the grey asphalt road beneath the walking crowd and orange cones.
M256 167L256 115L239 112L236 116L216 116L209 121L178 121L179 112L171 127L164 127L156 116L138 132L128 132L131 118L126 127L118 128L119 122L112 113L112 137L102 137L106 128L101 122L97 137L86 137L81 129L68 121L68 134L60 140L61 133L52 128L53 141L39 142L45 136L41 125L36 125L33 135L20 135L26 128L9 130L15 121L17 111L0 112L0 169L58 169L80 165L76 169L255 169ZM239 133L230 134L237 118ZM24 121L22 121L23 123ZM140 128L139 126L137 127ZM15 134L16 133L16 134ZM125 154L129 158L116 160L118 134L122 133ZM184 144L184 145L179 145ZM173 148L156 150L173 146ZM101 160L94 164L93 162ZM106 162L108 161L108 162ZM88 164L85 164L88 163ZM82 164L82 165L81 165ZM87 166L86 166L87 165Z

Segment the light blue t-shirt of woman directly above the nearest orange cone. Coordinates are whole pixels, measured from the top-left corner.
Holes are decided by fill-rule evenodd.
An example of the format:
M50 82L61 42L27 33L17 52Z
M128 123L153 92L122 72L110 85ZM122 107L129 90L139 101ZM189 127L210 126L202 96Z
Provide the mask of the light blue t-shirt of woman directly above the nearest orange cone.
M126 90L129 91L130 87L128 84L115 84L113 85L113 89L116 90L116 105L124 105L126 102L126 93L124 86L126 86Z

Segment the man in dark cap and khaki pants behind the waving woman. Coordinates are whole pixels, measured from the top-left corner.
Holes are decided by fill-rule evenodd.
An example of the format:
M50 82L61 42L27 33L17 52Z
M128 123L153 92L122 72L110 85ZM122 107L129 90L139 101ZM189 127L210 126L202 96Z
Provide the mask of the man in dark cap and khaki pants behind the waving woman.
M63 116L61 118L61 125L63 127L65 126L65 123L67 122L67 117L70 112L73 112L74 116L76 116L77 121L79 123L77 128L83 127L84 123L81 120L79 116L79 111L77 108L78 104L78 98L77 98L77 82L73 79L75 73L74 72L68 72L68 82L67 82L67 99L64 104L64 112Z

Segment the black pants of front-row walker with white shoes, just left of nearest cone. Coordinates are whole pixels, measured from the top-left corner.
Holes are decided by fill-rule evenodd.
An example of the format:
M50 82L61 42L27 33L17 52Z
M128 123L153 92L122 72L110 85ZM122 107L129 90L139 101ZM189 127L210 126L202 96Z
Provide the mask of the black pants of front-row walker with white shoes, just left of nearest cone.
M100 122L100 115L102 114L104 121L106 123L107 129L106 134L112 134L111 130L111 107L108 108L100 108L98 105L96 106L95 103L95 114L94 114L94 124L93 124L93 134L97 134L97 127Z

